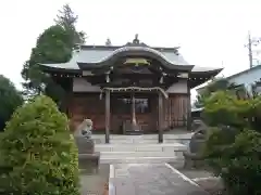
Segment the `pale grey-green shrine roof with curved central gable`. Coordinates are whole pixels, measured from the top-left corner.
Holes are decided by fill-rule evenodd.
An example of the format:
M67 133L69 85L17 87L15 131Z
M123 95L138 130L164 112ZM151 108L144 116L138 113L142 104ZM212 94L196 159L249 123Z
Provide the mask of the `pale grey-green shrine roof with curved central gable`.
M41 64L44 69L53 69L57 72L80 72L78 64L83 66L99 67L109 61L115 61L117 56L128 54L150 55L152 58L160 60L167 65L167 68L191 70L192 75L210 74L216 75L222 68L200 67L189 65L184 57L178 54L178 48L149 48L147 46L124 46L124 47L105 47L105 46L80 46L80 50L74 51L72 58L61 64Z

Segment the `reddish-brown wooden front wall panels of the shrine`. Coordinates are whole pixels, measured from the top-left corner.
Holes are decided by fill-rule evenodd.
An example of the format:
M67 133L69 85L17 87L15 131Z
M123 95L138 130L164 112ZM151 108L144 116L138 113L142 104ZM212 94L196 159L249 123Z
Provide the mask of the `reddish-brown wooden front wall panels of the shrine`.
M74 94L69 107L71 125L73 129L85 118L94 121L95 130L103 131L105 129L104 99L100 100L100 93L78 93ZM152 100L152 107L149 114L137 114L137 121L144 131L156 131L158 129L158 98ZM167 100L163 101L163 128L186 126L187 118L187 94L170 94ZM111 105L115 106L115 105ZM121 133L121 126L124 120L130 119L129 115L111 115L111 130L114 133Z

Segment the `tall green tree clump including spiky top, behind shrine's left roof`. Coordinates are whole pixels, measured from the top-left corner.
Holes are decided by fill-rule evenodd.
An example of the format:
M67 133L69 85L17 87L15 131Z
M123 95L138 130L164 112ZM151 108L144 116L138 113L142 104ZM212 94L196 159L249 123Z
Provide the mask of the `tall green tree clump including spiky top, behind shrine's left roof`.
M24 63L22 77L24 94L34 96L46 94L57 103L64 96L63 88L46 76L40 68L40 63L65 63L71 58L76 43L85 42L85 34L76 30L78 16L74 14L69 4L59 11L55 25L46 29L37 39L36 47L32 49L28 61Z

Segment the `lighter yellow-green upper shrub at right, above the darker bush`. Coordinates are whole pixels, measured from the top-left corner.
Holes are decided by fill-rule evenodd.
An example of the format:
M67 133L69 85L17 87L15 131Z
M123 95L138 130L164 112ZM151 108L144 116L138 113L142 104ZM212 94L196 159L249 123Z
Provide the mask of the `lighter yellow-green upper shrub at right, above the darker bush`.
M231 126L259 131L261 126L261 96L238 100L236 95L219 91L204 102L204 121L211 126ZM260 131L261 132L261 131Z

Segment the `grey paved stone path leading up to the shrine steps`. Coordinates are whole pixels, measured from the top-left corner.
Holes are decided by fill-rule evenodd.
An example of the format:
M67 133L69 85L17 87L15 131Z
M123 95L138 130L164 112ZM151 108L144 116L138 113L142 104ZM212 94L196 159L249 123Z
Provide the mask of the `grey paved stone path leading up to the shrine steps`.
M110 195L208 195L169 164L111 165Z

